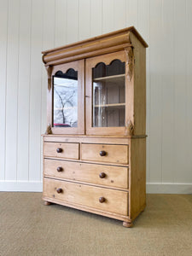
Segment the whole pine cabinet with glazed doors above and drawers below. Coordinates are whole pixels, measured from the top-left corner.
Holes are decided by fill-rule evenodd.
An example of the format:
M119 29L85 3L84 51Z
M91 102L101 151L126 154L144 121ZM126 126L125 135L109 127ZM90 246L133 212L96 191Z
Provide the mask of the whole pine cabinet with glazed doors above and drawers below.
M132 221L146 203L146 48L131 26L43 52L45 205Z

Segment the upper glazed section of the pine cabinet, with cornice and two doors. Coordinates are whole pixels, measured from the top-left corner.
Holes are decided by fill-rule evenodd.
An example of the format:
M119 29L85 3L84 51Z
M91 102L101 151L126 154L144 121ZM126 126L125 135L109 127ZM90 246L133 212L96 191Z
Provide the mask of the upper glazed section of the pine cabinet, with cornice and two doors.
M45 51L48 133L145 135L147 46L130 27Z

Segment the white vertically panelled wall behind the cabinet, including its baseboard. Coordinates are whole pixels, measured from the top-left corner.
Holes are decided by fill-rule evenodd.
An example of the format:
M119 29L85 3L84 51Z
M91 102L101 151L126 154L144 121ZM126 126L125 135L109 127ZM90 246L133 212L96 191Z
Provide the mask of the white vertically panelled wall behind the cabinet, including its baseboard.
M41 51L135 26L147 49L148 192L192 193L192 1L0 0L0 190L41 191Z

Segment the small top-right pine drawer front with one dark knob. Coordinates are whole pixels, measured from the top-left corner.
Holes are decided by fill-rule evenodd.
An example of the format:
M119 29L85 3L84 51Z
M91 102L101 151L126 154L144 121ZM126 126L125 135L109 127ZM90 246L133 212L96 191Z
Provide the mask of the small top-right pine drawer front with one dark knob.
M127 145L82 143L82 160L128 164Z

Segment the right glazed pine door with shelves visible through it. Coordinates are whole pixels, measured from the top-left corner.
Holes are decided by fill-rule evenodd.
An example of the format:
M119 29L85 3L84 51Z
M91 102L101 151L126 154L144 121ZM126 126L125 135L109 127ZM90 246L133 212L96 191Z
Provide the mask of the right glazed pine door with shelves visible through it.
M125 133L125 52L86 60L86 132Z

